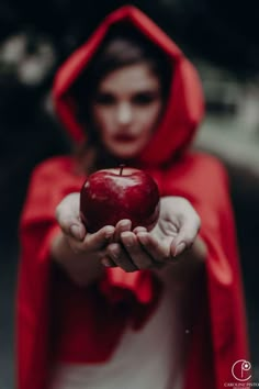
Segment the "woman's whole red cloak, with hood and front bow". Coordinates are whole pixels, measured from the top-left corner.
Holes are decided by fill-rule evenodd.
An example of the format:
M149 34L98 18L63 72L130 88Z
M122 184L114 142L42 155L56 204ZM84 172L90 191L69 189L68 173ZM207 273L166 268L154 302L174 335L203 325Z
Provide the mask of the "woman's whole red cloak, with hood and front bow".
M233 364L248 357L246 315L225 169L214 157L188 152L204 108L195 69L156 24L126 5L110 14L59 69L53 92L56 111L74 141L81 142L85 135L69 90L110 26L121 21L138 29L173 63L168 109L139 156L138 167L154 176L161 196L185 197L201 216L209 254L199 300L189 307L195 321L184 388L222 389L224 382L235 382ZM170 163L176 154L177 162ZM19 389L46 389L55 357L106 360L125 323L131 320L137 330L148 320L159 294L159 282L149 270L126 274L110 268L97 285L78 288L55 268L49 255L50 240L59 232L55 208L66 194L79 191L83 180L75 174L74 159L65 156L42 163L32 175L21 219Z

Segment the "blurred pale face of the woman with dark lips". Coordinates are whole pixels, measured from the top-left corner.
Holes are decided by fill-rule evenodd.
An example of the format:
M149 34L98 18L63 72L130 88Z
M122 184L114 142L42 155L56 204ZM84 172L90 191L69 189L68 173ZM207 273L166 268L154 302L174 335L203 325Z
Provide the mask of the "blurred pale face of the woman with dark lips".
M159 79L140 63L119 68L101 80L92 119L112 155L134 158L150 140L161 110Z

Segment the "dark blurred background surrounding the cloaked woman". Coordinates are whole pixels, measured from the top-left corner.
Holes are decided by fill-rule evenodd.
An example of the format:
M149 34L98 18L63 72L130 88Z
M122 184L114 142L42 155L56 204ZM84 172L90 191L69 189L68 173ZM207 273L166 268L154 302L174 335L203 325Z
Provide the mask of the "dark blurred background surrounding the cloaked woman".
M0 388L13 389L18 222L38 162L69 152L49 90L60 63L115 0L0 0ZM254 381L259 382L258 1L139 0L200 71L206 116L194 147L228 169L245 282Z

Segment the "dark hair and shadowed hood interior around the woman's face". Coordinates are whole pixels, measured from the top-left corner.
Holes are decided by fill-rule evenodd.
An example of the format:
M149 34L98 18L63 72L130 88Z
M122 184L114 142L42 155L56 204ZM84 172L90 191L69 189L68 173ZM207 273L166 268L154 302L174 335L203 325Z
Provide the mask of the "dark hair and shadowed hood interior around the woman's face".
M68 98L74 101L76 120L83 130L87 129L90 141L97 140L97 134L91 132L93 126L89 108L99 82L119 68L142 63L147 64L159 78L166 109L173 77L172 62L160 47L128 22L113 25L86 68L67 91Z

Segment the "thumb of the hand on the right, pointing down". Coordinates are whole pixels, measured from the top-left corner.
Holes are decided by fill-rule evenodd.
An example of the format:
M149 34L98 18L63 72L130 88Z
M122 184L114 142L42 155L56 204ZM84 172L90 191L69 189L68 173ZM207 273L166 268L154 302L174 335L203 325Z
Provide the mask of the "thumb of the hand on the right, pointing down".
M195 241L195 237L201 227L201 220L194 213L192 218L184 219L180 225L178 235L171 244L171 254L178 256L183 253L185 248L190 248Z

